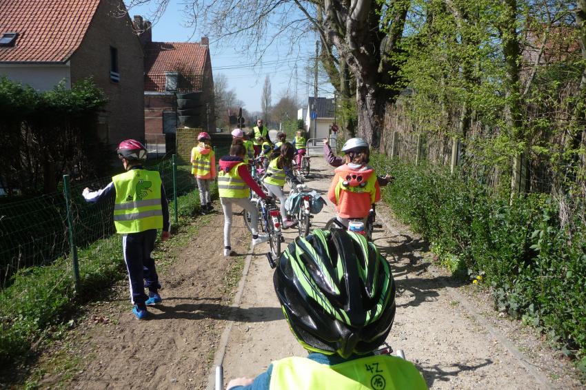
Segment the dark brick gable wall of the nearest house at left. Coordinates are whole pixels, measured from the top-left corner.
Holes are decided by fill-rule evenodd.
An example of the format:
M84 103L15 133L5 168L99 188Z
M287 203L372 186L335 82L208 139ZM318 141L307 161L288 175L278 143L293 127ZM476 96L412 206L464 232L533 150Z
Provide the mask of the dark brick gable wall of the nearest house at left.
M120 0L102 0L88 32L71 57L71 80L92 77L108 96L101 115L108 126L108 143L145 134L143 50L127 16L119 17ZM120 81L110 80L110 47L118 50Z

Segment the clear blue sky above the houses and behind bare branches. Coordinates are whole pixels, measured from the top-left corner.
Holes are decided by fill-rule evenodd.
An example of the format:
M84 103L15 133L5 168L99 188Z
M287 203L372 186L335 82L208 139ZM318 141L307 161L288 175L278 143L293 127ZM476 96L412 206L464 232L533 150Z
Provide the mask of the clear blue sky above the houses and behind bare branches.
M128 3L128 0L126 1ZM214 77L224 74L228 79L228 89L234 89L238 99L243 101L249 112L261 111L261 94L265 77L271 81L272 104L289 90L290 96L298 101L307 102L308 94L313 96L314 76L308 75L305 66L315 57L315 38L307 39L299 47L296 56L287 55L288 43L276 41L265 52L261 65L254 65L254 59L238 54L230 39L218 39L199 30L199 26L188 27L184 19L185 0L171 0L163 17L152 28L152 40L163 42L199 42L201 37L210 38L210 55ZM130 17L140 14L150 20L153 5L133 7ZM286 45L286 48L285 48ZM332 96L332 86L325 81L319 82L319 96Z

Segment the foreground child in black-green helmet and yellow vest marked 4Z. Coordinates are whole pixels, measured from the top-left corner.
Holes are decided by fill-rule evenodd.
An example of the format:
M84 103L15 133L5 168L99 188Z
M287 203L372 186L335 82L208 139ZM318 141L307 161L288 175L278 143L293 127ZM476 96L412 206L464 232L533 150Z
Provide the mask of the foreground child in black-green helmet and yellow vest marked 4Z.
M389 264L360 234L314 229L276 262L274 290L290 331L309 352L276 360L228 390L426 390L417 368L398 356L374 354L396 311Z

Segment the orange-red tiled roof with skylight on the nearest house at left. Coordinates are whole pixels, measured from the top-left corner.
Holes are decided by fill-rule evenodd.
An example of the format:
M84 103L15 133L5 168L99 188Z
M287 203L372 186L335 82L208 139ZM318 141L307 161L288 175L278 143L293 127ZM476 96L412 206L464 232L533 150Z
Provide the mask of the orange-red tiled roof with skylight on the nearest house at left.
M0 34L18 32L0 47L0 62L65 62L79 47L100 0L0 0Z

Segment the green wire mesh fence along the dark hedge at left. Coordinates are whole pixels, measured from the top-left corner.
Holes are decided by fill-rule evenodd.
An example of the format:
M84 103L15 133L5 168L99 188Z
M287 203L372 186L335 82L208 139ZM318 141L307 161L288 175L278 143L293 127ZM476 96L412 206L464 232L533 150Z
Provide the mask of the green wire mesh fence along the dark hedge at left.
M228 147L217 149L216 163L219 156L227 152ZM181 214L181 197L189 194L195 203L199 199L191 165L179 165L174 161L176 159L173 156L145 165L145 168L158 170L161 174L170 203L172 221L177 220L178 213ZM96 190L105 187L110 181L112 178L108 176L92 181L73 182L68 188L64 186L61 192L0 204L0 286L3 288L10 285L11 276L21 269L47 265L70 254L72 246L65 194L70 199L74 247L87 247L114 234L114 199L87 203L81 195L85 187ZM188 199L183 203L193 204Z

